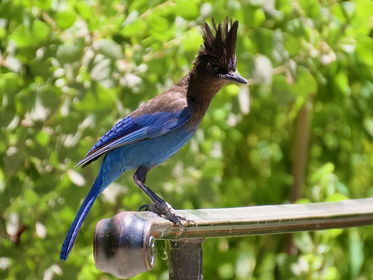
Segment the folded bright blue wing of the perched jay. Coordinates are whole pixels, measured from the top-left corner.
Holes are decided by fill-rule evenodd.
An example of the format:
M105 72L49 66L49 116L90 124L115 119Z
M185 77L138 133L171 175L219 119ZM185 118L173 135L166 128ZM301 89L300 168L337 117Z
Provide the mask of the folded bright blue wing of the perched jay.
M112 127L87 153L76 167L90 164L105 152L137 141L157 137L181 127L189 121L191 112L188 107L178 112L149 113L137 118L126 116Z

